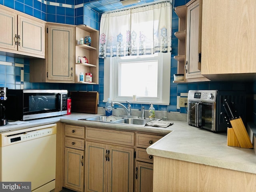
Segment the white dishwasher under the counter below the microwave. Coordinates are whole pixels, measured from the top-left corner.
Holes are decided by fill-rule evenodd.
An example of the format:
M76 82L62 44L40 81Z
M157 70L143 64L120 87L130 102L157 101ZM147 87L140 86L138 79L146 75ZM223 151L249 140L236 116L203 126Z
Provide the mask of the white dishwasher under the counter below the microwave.
M0 181L31 182L32 192L55 188L56 124L0 133Z

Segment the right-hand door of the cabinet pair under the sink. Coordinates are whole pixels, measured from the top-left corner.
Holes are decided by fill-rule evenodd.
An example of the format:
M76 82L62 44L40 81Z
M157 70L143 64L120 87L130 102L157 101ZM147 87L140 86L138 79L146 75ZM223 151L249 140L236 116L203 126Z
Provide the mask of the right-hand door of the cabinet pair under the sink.
M108 192L133 192L134 149L109 146Z

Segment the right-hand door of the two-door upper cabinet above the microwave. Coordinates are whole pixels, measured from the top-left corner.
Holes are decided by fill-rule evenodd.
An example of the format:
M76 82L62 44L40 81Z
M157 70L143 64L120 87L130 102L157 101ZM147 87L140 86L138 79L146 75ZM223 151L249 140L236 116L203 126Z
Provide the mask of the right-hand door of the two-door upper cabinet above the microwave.
M44 55L44 23L18 15L18 50Z

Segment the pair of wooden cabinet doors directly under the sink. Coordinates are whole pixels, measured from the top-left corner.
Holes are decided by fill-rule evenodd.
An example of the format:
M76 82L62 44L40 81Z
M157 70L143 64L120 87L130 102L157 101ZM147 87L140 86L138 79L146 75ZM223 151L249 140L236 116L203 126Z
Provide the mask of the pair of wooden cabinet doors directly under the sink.
M86 192L132 192L133 148L86 142Z

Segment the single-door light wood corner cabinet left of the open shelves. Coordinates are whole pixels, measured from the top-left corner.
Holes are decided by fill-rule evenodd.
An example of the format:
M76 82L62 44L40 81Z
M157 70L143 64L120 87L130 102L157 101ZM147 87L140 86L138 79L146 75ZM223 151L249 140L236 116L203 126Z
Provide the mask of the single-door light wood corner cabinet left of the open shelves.
M46 59L30 60L30 82L74 83L75 27L46 25Z

